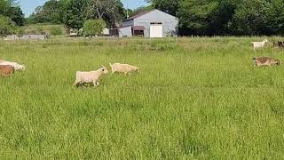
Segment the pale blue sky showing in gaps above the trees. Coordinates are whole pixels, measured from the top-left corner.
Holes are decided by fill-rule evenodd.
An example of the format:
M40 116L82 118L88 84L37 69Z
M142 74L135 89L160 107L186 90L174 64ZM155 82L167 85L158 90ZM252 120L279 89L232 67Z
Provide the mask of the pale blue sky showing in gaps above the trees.
M36 7L43 5L47 0L19 0L20 7L23 10L25 17L35 11ZM143 0L121 0L124 6L128 4L130 9L138 8L141 5L147 5Z

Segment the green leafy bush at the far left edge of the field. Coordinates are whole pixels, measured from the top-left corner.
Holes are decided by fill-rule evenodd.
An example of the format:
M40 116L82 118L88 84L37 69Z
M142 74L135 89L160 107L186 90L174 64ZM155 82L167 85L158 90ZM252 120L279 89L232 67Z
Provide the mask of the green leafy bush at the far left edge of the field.
M15 23L8 17L0 15L0 38L11 35L15 31Z

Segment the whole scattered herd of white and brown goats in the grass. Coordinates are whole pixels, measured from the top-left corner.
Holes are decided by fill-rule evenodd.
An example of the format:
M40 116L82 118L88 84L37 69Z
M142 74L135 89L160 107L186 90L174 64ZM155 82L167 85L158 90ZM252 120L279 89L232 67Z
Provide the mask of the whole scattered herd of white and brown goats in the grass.
M268 43L267 39L264 39L262 42L252 42L253 44L253 49L256 51L258 48L264 47L264 44ZM273 42L273 47L283 47L284 48L284 42ZM275 60L269 57L258 57L254 58L253 60L256 61L256 66L271 66L272 64L280 65L280 60ZM138 67L136 66L131 66L129 64L121 64L121 63L114 63L114 64L109 64L112 73L114 74L115 72L120 72L124 73L127 75L130 72L137 71L138 72ZM10 76L14 73L14 71L17 70L25 70L25 66L18 64L17 62L12 62L12 61L6 61L6 60L0 60L0 75L1 76ZM99 86L99 77L102 75L107 74L107 69L104 66L101 66L98 70L95 71L90 71L90 72L82 72L82 71L77 71L76 72L76 79L75 83L73 84L73 87L76 86L78 87L79 85L82 84L93 84L94 86Z

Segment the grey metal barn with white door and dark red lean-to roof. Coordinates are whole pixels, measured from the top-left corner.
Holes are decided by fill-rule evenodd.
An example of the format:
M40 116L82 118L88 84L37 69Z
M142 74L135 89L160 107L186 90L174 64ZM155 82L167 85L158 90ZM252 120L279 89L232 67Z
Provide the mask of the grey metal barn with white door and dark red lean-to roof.
M113 36L165 37L177 36L177 17L157 9L141 12L122 21L122 27L112 31Z

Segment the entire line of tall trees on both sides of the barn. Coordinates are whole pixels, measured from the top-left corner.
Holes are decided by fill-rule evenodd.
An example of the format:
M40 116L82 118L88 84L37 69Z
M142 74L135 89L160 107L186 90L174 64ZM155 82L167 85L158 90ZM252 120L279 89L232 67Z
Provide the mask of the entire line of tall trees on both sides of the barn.
M82 28L83 21L103 19L117 26L130 15L153 8L177 16L181 36L284 35L284 0L145 0L150 6L131 11L119 0L50 0L30 20Z

